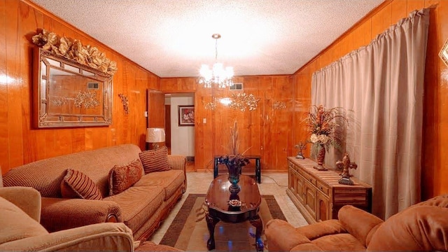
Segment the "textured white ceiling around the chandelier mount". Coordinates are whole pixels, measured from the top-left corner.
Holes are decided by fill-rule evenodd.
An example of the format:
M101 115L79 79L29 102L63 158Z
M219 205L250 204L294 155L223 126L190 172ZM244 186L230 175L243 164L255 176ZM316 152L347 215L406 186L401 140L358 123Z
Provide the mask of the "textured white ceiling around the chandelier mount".
M33 0L160 77L291 74L384 0ZM107 56L107 55L106 55Z

